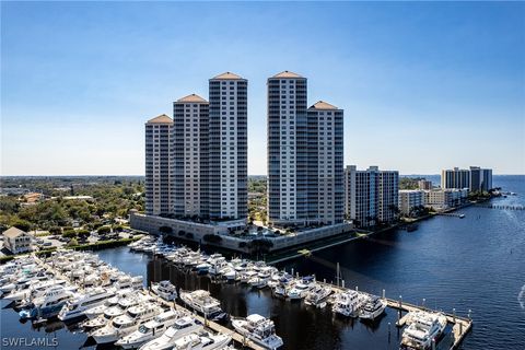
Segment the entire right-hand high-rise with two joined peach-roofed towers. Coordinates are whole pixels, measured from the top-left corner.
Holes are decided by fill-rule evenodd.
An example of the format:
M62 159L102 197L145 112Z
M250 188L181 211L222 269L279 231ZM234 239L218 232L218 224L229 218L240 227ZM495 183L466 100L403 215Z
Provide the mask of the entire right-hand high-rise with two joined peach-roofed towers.
M268 79L268 222L335 224L343 217L342 116L318 102L306 108L306 78Z

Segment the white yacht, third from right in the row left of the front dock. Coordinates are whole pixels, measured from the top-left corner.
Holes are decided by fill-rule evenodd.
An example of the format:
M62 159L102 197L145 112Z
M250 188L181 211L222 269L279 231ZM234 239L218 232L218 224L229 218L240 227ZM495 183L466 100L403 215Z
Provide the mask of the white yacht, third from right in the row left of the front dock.
M117 342L115 342L115 345L124 349L139 348L143 343L162 336L179 316L180 314L176 311L166 311L159 316L155 316L155 318L152 320L149 320L140 326L139 329L132 334L120 338Z

